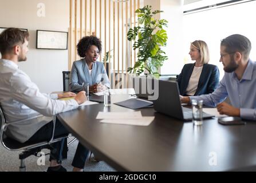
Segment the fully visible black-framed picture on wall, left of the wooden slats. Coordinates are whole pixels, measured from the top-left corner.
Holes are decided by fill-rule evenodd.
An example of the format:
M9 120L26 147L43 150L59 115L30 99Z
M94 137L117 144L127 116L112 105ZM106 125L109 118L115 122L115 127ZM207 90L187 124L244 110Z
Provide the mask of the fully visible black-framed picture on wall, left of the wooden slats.
M68 32L37 30L37 49L67 50Z

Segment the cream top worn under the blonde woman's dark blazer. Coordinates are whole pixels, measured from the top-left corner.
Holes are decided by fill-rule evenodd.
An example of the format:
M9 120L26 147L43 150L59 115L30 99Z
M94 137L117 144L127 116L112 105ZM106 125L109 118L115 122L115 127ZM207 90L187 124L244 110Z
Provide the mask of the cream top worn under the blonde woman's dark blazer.
M198 81L202 73L202 70L203 70L203 66L194 67L194 70L190 77L190 81L188 82L188 86L187 86L186 93L188 96L194 96L194 94L196 93L196 90L198 89Z

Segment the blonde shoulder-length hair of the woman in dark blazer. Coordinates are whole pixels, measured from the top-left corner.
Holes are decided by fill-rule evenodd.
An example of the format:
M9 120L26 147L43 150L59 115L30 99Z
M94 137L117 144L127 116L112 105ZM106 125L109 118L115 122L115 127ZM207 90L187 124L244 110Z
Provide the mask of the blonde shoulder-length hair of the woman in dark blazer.
M201 63L203 64L208 63L210 60L210 54L209 54L209 49L206 42L201 40L196 40L194 42L191 42L191 45L199 50L201 55Z

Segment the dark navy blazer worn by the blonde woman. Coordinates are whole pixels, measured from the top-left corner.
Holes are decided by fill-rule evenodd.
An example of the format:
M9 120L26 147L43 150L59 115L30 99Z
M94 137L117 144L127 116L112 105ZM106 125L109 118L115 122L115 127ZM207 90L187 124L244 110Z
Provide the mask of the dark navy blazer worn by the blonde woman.
M186 96L188 82L194 70L195 63L188 63L184 65L182 73L179 74L177 82L179 84L180 95ZM214 92L219 84L219 69L215 65L204 64L203 70L198 81L198 88L194 96L202 94L209 94Z

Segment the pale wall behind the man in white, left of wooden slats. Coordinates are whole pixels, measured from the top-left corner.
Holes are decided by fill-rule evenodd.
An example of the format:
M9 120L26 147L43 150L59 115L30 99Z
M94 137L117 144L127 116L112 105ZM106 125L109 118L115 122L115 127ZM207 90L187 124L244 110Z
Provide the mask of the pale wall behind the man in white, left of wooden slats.
M45 4L45 17L37 16L38 3ZM37 50L36 30L68 31L68 0L0 0L0 27L28 29L27 61L19 63L41 92L62 91L62 71L68 70L68 50Z

